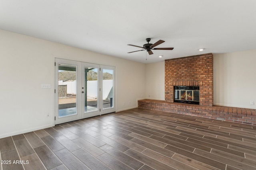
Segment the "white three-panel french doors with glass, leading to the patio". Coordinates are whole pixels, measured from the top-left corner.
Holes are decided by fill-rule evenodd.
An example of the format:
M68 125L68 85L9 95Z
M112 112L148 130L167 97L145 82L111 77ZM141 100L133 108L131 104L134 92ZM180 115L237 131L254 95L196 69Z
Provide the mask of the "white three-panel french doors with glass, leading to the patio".
M115 67L64 59L55 65L55 124L115 111Z

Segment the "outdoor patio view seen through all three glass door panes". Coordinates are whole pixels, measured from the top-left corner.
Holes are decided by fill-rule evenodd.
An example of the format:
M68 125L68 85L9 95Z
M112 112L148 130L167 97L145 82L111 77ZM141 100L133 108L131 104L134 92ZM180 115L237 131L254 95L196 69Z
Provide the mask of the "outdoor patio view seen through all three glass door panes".
M85 82L82 96L85 98L84 112L98 110L98 68L85 68ZM60 64L58 71L59 117L77 114L77 79L75 66ZM103 109L113 107L113 70L103 69ZM80 90L79 90L80 92Z

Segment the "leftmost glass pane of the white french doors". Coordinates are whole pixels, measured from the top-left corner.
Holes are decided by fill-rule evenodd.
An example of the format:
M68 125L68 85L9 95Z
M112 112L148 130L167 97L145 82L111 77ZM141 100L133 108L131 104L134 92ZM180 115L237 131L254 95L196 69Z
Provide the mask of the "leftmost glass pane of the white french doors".
M58 117L76 115L76 65L58 64Z

